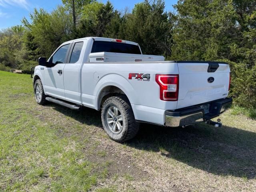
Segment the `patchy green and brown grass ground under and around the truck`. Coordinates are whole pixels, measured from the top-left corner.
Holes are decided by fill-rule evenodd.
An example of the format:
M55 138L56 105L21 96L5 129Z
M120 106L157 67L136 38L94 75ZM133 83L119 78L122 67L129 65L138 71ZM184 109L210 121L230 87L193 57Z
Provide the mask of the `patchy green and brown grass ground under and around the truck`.
M0 71L0 191L256 191L256 120L222 128L143 124L124 144L100 112L36 104L26 74Z

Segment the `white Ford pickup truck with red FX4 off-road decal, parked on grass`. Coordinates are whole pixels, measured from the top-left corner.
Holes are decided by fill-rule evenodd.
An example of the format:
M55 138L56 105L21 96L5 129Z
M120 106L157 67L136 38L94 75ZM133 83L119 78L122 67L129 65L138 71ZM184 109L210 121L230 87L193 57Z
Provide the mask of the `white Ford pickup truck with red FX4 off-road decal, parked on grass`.
M139 122L211 123L232 103L227 63L164 61L142 55L137 43L98 37L65 42L48 61L39 58L33 86L38 104L101 110L104 130L118 142L133 138Z

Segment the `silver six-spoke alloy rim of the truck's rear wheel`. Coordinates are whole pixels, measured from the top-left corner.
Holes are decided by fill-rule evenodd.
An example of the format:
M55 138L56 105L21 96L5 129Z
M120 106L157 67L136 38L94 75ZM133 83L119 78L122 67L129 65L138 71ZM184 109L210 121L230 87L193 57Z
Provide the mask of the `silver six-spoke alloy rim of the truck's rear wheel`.
M123 115L116 106L110 106L106 112L106 122L108 128L114 134L122 131L124 126Z

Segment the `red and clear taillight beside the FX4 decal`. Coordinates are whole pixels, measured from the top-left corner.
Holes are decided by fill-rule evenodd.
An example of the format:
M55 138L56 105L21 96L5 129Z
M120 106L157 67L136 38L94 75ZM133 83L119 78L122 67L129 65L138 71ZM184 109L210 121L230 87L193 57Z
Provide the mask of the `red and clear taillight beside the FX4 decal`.
M160 100L178 100L179 75L156 74L156 82L160 86Z

